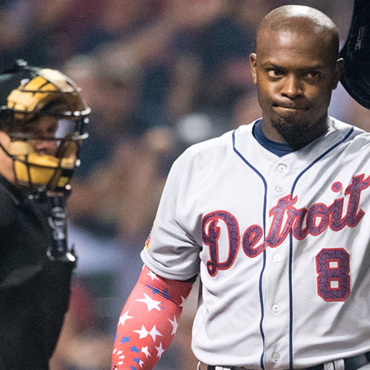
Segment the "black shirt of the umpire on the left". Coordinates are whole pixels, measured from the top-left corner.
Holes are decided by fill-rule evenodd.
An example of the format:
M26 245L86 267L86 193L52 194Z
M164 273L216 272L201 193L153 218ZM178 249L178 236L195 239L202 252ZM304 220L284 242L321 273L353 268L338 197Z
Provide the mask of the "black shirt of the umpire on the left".
M46 202L0 175L0 370L46 370L68 308L71 267L48 259Z

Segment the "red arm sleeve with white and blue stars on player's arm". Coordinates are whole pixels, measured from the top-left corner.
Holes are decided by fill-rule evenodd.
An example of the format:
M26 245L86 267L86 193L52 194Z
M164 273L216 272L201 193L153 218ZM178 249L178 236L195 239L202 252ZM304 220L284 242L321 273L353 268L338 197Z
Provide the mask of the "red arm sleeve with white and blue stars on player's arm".
M143 267L118 320L112 370L154 368L176 333L192 284Z

